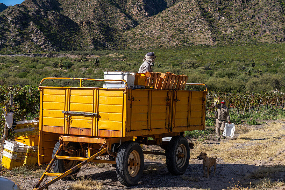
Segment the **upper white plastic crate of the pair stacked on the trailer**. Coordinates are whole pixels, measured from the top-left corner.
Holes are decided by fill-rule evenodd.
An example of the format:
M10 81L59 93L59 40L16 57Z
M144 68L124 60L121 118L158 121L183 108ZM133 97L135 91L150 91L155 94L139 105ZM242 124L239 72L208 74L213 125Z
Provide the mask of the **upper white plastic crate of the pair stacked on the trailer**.
M135 84L135 72L130 71L104 71L104 79L124 79L128 86ZM123 81L105 81L105 84L125 84Z

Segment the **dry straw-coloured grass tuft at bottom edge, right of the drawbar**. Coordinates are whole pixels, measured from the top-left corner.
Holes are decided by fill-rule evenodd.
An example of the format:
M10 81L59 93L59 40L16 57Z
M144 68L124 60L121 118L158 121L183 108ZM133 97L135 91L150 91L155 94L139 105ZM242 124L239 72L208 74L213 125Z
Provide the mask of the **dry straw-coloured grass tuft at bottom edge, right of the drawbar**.
M75 184L72 184L71 187L73 190L93 190L93 189L103 189L103 183L91 180L89 178L81 177L76 181Z

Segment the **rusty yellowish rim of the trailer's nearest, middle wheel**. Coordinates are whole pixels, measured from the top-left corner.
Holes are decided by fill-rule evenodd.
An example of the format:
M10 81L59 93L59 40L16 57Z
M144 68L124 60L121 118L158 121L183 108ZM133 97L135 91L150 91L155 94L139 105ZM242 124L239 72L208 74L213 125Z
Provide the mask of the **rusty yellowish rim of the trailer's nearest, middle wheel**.
M128 158L128 171L131 177L136 177L141 167L141 157L138 151L133 150Z

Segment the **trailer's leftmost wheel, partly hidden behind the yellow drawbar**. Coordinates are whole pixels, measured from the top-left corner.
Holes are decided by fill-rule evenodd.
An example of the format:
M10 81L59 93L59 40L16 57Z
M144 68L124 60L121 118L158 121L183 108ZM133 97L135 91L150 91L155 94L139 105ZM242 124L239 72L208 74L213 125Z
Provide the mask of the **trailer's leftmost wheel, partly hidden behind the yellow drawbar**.
M60 142L57 142L56 145L54 146L53 152L52 152L52 157L55 155L56 151L59 149ZM80 149L80 144L78 142L69 142L68 143L68 148L69 149ZM64 150L61 150L58 155L60 156L76 156L72 155L70 153L67 153ZM82 157L82 154L80 155ZM55 159L54 164L53 164L53 171L54 173L64 173L71 169L72 167L76 166L79 161L76 160L64 160L64 159ZM71 176L75 177L77 173L79 172L80 168L76 169L74 172L70 173L70 175L63 177L62 180L68 180L71 179Z

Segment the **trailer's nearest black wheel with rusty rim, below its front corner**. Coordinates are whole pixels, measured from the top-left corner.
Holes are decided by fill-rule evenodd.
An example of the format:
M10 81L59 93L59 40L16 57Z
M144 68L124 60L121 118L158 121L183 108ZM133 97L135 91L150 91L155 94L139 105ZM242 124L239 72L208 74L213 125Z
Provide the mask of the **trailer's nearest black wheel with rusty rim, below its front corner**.
M126 141L119 147L116 157L116 173L122 185L133 186L143 175L144 157L139 143Z

